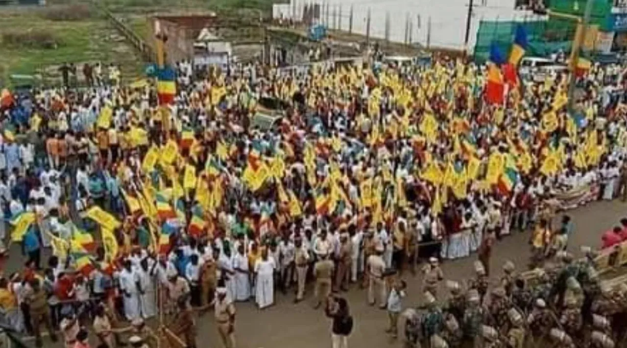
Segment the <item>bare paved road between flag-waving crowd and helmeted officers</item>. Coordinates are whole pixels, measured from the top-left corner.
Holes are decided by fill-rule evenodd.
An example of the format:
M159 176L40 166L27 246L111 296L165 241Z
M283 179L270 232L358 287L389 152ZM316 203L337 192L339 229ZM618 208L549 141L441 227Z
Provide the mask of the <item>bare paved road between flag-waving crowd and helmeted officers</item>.
M600 235L627 216L627 204L599 202L570 211L575 223L575 231L569 241L569 249L579 254L581 245L598 247ZM498 243L492 256L494 273L500 272L500 265L505 260L512 260L519 268L527 263L529 246L526 233L515 233ZM23 258L17 248L12 248L6 264L6 271L17 270L23 265ZM473 274L472 255L463 260L448 261L443 265L446 278L463 280ZM404 305L415 305L421 300L421 278L408 275L408 297ZM309 294L312 290L309 290ZM444 289L440 293L444 293ZM352 347L402 347L402 340L391 341L384 333L387 325L386 313L366 304L366 292L351 288L345 294L349 300L355 327L349 344ZM292 303L293 297L277 295L277 303L265 310L258 310L253 303L238 303L236 320L236 339L238 348L324 348L330 347L328 320L322 310L314 310L311 302ZM213 322L212 313L198 320L198 347L222 347L218 332ZM93 340L95 342L95 339ZM48 345L51 346L48 342Z

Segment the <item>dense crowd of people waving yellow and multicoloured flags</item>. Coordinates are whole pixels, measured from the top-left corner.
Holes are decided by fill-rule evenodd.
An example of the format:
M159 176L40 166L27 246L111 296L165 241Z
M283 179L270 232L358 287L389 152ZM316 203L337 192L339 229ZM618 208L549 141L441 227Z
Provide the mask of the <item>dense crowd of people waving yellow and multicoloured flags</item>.
M177 68L168 105L152 85L117 82L3 93L0 198L28 261L0 280L0 307L38 346L41 324L74 347L81 323L92 322L102 347L120 344L124 330L153 347L143 320L163 312L196 347L191 308L213 307L230 348L233 302L263 309L275 289L292 287L300 302L314 282L315 307L339 318L334 347L345 347L352 320L345 300L330 295L359 283L396 333L405 284L394 275L428 260L419 269L428 315L409 337L455 345L440 337L454 318L475 330L471 337L480 324L494 326L485 337L498 347L499 334L527 325L508 311L519 281L492 292L492 319L472 319L485 278L467 293L468 308L449 306L442 317L438 263L478 251L487 277L497 240L532 229L530 267L542 266L563 256L572 231L568 218L553 226L558 209L627 197L624 92L604 88L621 83L608 73L614 67L593 66L579 79L585 93L570 115L566 75L520 82L503 105L490 105L482 66L461 61L312 65L295 74L248 66L201 77L188 63ZM287 107L261 127L268 99ZM42 265L48 247L53 256ZM581 308L563 298L571 278L590 304L593 277L582 280L585 272L560 260L570 275L559 277L561 290L516 302L519 314ZM562 338L579 337L559 322Z

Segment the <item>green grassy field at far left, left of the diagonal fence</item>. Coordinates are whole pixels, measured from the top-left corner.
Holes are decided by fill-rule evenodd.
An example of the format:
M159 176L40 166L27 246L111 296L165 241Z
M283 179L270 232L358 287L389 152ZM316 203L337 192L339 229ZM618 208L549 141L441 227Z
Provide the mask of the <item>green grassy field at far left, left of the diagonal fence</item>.
M117 33L102 18L57 21L42 18L36 11L0 13L0 33L0 80L4 83L12 74L42 73L48 80L46 75L55 75L54 66L63 62L113 62L129 78L142 71L139 55L124 41L112 40ZM38 38L36 44L29 40L33 36ZM48 45L50 41L56 45Z

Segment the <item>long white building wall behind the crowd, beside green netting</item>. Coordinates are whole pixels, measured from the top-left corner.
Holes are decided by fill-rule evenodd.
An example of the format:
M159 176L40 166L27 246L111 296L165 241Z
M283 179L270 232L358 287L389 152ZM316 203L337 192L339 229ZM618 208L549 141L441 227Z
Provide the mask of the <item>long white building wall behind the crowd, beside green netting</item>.
M468 3L470 0L290 0L290 4L274 5L275 18L292 18L300 21L305 5L319 4L320 17L315 21L330 29L348 31L352 7L353 33L366 34L368 11L371 13L370 35L404 43L463 50ZM468 50L475 46L477 29L481 20L524 21L532 20L530 11L516 10L515 0L473 0ZM389 19L387 19L389 18ZM386 20L387 19L387 20ZM534 18L536 19L536 18ZM386 23L389 29L386 30ZM429 25L430 23L430 25ZM430 26L430 30L429 30ZM411 32L411 34L409 33ZM406 33L407 37L406 37Z

